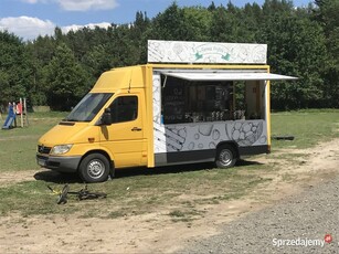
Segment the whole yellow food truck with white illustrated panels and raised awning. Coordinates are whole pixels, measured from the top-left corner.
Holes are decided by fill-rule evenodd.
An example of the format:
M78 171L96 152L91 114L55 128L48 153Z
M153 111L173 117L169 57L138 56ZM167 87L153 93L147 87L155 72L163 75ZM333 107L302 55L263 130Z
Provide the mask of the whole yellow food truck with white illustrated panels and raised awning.
M269 73L265 44L149 41L148 47L151 63L103 73L39 139L40 166L100 182L116 168L202 161L229 168L243 155L269 152L269 81L295 77Z

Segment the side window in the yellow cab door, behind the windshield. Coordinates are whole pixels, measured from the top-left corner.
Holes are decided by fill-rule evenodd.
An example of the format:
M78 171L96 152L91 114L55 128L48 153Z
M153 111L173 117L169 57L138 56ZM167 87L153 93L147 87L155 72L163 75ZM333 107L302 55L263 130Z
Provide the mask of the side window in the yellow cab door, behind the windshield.
M120 96L110 105L112 123L130 121L138 118L138 97Z

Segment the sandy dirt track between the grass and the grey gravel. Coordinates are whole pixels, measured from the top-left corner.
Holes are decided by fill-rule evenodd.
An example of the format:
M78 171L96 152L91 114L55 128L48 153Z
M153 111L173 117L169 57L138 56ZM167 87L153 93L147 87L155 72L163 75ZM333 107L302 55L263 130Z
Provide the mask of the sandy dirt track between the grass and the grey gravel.
M272 171L262 176L272 180L237 200L200 204L198 210L202 212L195 220L173 221L169 216L172 204L153 213L119 219L13 214L0 218L0 247L4 253L171 253L189 242L219 233L224 223L332 178L338 173L339 139L311 149L285 149L255 160L272 165ZM2 174L1 184L31 176Z

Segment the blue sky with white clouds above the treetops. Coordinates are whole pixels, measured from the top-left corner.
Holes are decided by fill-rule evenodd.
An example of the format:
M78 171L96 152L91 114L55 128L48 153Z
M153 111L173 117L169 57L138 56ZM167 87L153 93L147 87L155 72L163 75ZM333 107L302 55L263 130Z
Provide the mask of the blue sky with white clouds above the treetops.
M226 6L229 0L213 0L215 6ZM312 0L294 0L295 7L307 6ZM135 21L136 12L148 18L163 12L173 0L0 0L0 30L34 40L38 35L53 35L54 28L63 32L83 27L107 28L110 23ZM180 7L209 7L212 0L177 0ZM237 7L264 0L231 0Z

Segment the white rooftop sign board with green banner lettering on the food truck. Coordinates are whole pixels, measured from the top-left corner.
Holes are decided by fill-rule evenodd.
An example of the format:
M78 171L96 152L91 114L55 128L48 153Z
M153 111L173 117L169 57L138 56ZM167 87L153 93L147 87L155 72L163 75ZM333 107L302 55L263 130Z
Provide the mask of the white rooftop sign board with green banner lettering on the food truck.
M149 63L265 64L266 44L148 41Z

